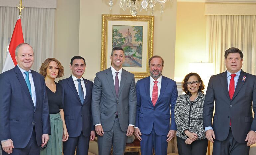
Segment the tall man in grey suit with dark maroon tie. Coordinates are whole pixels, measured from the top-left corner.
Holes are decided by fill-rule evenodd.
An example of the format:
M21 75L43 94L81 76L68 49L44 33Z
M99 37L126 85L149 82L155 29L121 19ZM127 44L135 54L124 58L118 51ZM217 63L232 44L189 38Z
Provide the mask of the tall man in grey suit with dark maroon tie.
M122 69L124 50L114 47L111 67L96 73L92 88L92 117L99 155L122 155L127 136L134 132L136 91L134 74Z

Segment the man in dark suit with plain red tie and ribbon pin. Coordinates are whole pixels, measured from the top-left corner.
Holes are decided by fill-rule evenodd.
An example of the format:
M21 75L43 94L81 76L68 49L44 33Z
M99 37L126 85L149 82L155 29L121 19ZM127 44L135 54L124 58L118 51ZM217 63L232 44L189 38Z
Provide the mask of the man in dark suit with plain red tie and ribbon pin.
M225 65L227 71L210 78L203 126L207 139L214 142L213 155L248 155L256 142L256 76L241 70L243 53L237 48L225 51Z

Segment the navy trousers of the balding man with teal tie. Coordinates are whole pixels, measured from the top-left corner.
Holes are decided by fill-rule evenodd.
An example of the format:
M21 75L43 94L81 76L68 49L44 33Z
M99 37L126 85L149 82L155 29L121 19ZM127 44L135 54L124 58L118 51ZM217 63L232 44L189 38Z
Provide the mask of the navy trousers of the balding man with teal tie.
M6 153L3 150L3 148L2 148L2 153L3 155L8 155L8 153ZM11 155L39 155L39 154L40 154L40 146L37 146L35 128L33 129L28 145L25 148L13 148L11 153Z

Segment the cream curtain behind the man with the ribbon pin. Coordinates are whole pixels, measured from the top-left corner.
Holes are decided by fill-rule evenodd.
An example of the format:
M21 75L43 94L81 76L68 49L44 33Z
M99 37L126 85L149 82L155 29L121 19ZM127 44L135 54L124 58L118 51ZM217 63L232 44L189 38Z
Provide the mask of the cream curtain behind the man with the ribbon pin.
M255 15L206 15L206 52L209 62L215 64L215 73L226 70L224 53L230 47L243 54L242 69L256 73L256 16Z

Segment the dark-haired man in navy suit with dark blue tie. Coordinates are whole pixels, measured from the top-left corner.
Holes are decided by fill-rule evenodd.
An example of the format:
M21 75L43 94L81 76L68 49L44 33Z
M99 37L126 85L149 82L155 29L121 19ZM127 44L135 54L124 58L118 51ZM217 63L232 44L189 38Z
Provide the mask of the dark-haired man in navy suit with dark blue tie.
M70 62L72 75L59 83L64 88L64 117L69 138L63 142L64 155L87 155L90 140L95 138L91 115L93 82L84 79L85 60L74 56Z

